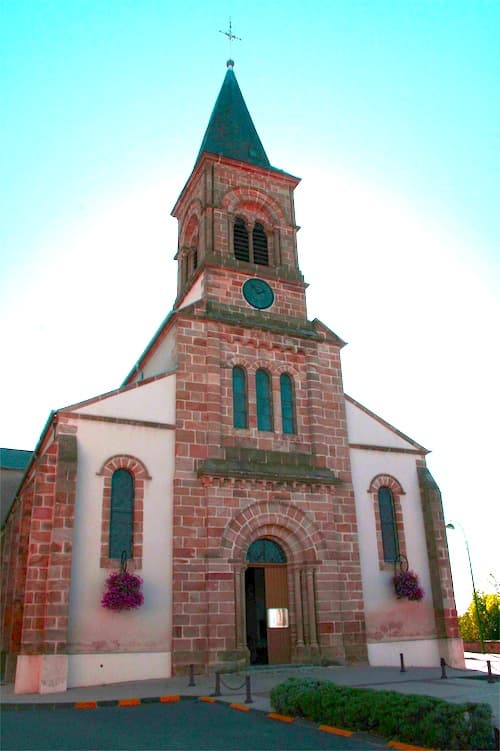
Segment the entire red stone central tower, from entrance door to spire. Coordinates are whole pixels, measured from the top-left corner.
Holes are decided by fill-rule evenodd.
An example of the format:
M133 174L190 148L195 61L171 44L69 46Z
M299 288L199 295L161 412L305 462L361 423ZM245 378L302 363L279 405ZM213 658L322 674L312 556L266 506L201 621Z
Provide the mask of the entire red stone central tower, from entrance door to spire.
M172 212L174 672L366 659L344 343L307 318L298 183L229 61Z

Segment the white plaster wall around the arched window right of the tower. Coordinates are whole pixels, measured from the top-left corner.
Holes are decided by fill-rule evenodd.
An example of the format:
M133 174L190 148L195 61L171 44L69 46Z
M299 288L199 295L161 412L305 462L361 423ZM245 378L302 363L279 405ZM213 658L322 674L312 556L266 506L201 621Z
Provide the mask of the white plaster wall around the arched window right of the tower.
M436 624L415 455L364 449L351 449L350 453L358 518L367 641L369 644L397 644L411 639L432 639L436 636ZM378 474L392 475L405 491L405 495L401 496L406 540L404 552L410 568L418 574L425 592L423 600L419 602L410 602L406 598L398 600L394 595L391 581L393 567L381 570L379 566L373 494L367 492L371 480ZM376 650L373 654L375 653L378 654Z

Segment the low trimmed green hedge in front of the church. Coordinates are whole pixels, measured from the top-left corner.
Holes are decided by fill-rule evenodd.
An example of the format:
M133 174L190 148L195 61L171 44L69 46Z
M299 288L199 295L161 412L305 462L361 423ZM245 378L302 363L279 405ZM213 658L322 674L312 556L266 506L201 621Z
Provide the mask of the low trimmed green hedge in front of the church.
M491 707L450 704L432 696L348 688L331 681L289 678L271 691L275 712L363 730L434 749L493 749Z

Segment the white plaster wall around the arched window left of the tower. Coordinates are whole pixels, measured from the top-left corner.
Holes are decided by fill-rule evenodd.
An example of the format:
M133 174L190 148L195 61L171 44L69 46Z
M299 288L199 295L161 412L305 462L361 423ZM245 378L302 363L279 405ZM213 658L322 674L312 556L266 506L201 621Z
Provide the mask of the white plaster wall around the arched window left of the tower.
M162 675L170 665L172 621L172 498L175 431L123 424L79 421L78 478L73 536L68 652L161 654ZM137 457L151 480L145 481L143 566L144 605L138 610L113 612L101 606L109 569L100 568L103 463L116 454ZM154 662L144 657L147 664ZM131 680L130 660L70 659L71 685L99 676L109 682ZM134 664L139 664L137 660ZM104 664L103 660L99 663ZM144 663L146 664L146 663ZM136 668L134 668L136 670ZM169 670L169 668L168 668ZM97 673L96 673L97 671ZM135 675L135 673L134 673ZM90 677L89 677L90 676Z

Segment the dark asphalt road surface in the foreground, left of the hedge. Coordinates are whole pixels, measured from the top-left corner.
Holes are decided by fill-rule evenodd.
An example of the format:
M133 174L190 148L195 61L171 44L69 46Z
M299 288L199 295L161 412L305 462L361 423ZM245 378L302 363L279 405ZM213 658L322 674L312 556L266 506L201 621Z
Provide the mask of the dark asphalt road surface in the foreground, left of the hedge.
M4 712L2 751L387 751L384 739L348 737L304 720L273 720L199 699L55 712L47 704ZM60 706L60 705L56 705ZM244 705L243 705L244 706Z

